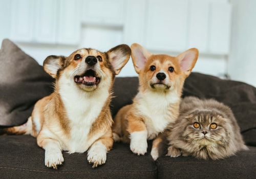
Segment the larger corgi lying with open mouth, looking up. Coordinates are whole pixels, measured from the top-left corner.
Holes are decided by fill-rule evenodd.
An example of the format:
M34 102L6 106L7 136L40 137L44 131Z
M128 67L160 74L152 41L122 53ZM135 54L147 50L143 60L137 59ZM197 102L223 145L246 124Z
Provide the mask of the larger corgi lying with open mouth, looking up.
M54 92L35 104L27 123L4 132L36 137L45 149L47 167L57 169L63 163L62 150L88 150L93 167L104 164L114 142L112 85L130 55L130 47L122 44L105 53L80 49L69 57L47 57L44 70L56 79Z

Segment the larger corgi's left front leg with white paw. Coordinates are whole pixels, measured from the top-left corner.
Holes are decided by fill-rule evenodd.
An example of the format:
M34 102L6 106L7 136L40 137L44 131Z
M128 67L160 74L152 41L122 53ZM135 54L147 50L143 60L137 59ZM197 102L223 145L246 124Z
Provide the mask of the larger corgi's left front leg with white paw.
M60 144L57 140L51 138L37 137L38 146L45 149L45 165L57 169L58 165L64 162Z

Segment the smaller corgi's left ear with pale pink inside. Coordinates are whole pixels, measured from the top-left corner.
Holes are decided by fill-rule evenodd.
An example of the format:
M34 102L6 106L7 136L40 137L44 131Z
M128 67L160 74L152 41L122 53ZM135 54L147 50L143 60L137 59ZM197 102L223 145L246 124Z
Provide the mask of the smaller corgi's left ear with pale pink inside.
M133 43L132 49L132 59L135 71L139 74L144 68L147 59L151 56L151 53L140 46L138 43Z

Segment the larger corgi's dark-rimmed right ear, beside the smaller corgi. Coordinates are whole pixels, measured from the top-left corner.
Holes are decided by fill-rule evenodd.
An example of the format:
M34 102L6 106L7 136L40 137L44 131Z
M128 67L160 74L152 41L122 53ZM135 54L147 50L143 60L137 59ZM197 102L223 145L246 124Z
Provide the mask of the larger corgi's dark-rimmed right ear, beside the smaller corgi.
M126 44L120 44L106 53L109 56L109 61L111 62L116 75L118 75L131 56L131 49Z

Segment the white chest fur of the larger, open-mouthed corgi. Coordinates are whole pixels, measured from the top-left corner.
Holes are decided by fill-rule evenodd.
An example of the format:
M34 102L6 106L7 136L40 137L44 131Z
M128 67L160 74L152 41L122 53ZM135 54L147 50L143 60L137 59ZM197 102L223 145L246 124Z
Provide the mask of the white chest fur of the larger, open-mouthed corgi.
M69 139L63 139L63 145L70 152L85 152L97 138L88 138L88 134L109 97L108 90L102 90L91 96L83 92L74 83L64 84L60 96L67 111L70 124Z

